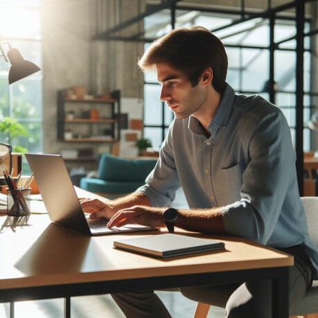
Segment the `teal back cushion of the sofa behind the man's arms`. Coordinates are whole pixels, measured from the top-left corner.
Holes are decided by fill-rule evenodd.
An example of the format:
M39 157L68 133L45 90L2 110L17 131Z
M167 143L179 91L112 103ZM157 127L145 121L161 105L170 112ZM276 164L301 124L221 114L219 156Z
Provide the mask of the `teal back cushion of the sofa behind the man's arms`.
M112 182L144 182L157 159L123 159L103 154L98 165L98 179Z

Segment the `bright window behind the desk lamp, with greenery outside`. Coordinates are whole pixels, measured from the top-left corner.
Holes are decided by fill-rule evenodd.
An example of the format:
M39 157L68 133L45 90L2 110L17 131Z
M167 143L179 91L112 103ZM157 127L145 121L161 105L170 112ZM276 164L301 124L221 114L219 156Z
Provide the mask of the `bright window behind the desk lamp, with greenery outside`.
M41 63L39 0L0 0L0 42L4 53L9 42L25 60ZM26 136L0 134L2 142L26 148L28 152L42 150L42 72L8 85L10 63L0 57L0 117L10 117L23 125ZM24 160L24 172L28 166Z

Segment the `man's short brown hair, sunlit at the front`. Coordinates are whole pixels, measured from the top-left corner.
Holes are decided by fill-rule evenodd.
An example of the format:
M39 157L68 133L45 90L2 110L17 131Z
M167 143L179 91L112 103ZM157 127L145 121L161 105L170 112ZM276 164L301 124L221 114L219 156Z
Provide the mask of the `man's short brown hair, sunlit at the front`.
M201 26L177 28L150 45L138 65L141 71L154 69L157 63L167 63L188 75L197 85L204 70L213 70L212 85L222 94L227 78L227 53L218 37Z

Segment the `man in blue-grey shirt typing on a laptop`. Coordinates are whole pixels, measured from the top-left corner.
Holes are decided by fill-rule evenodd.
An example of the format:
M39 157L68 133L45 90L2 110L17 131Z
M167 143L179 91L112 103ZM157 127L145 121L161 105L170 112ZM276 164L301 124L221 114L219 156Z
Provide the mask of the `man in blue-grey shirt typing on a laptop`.
M82 202L109 227L139 223L256 240L293 254L290 308L318 277L317 248L299 197L290 128L278 107L260 96L236 95L225 82L222 42L202 27L180 28L152 43L139 61L154 69L174 112L157 166L145 186L103 203ZM182 186L189 210L166 211ZM163 216L164 213L164 216ZM213 283L213 282L211 282ZM272 317L271 283L182 288L204 292L227 317ZM216 296L215 296L216 295ZM127 317L170 317L153 292L115 294Z

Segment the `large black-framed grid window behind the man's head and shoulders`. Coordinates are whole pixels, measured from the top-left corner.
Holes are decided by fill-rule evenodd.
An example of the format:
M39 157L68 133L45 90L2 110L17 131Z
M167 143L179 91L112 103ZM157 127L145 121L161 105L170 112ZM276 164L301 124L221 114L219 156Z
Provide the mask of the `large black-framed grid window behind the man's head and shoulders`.
M169 10L162 10L156 15L151 15L145 19L145 36L159 37L167 33L170 28L166 26L164 13L170 15ZM154 18L154 16L156 16ZM185 12L176 11L175 27L200 25L210 30L226 26L231 21L238 19L234 15L215 15L209 12ZM156 28L157 26L157 28ZM164 26L164 27L163 27ZM306 22L306 32L310 25ZM229 68L227 82L237 93L246 95L259 94L268 100L269 95L264 89L269 75L269 44L270 25L268 19L251 19L236 26L223 28L215 31L224 43L229 58ZM276 19L274 28L274 41L292 37L296 33L294 19ZM149 44L145 44L145 49ZM295 67L296 53L294 48L296 42L291 39L282 43L275 50L275 82L278 85L275 103L285 114L292 139L295 139L296 125L296 82ZM310 91L310 38L306 37L306 53L304 55L304 90L308 92L304 98L304 151L310 150L310 131L306 123L310 119L312 98ZM159 147L164 140L169 123L173 120L173 115L168 114L168 107L159 101L160 86L157 78L145 75L144 86L144 135L152 141L155 147ZM166 109L166 110L164 110Z

